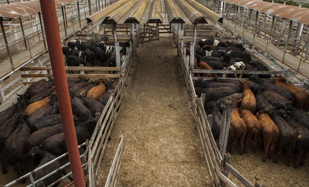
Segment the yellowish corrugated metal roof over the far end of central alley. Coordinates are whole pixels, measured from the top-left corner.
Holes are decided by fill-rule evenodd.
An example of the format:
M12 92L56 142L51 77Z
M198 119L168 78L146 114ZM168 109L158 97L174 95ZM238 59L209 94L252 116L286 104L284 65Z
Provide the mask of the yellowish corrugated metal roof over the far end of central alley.
M165 5L165 6L164 6ZM165 9L164 9L165 7ZM164 13L168 22L164 22ZM207 23L222 17L194 0L119 0L87 17L88 22L103 23Z

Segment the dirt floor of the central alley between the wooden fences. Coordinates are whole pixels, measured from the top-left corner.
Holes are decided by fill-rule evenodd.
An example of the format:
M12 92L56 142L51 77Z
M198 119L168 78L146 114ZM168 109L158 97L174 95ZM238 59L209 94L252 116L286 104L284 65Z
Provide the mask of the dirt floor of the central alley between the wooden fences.
M189 96L170 37L140 45L132 82L106 149L98 186L106 181L124 135L120 187L209 186ZM166 58L165 58L166 56Z

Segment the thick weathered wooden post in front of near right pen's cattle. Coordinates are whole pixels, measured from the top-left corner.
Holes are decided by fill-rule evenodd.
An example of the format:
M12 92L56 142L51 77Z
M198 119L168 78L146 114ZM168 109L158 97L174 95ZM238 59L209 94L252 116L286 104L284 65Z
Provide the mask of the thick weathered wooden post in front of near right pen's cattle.
M221 156L224 156L226 152L227 139L230 129L231 122L231 112L232 112L232 102L225 101L222 115L222 125L220 129L220 137L219 137L219 151Z

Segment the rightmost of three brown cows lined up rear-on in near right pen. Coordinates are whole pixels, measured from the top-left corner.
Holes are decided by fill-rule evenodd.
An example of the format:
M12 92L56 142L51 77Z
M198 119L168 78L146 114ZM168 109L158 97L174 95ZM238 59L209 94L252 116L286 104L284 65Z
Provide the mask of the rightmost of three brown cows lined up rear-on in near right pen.
M270 158L272 152L275 150L279 139L279 129L273 120L265 113L258 114L257 118L261 124L261 138L264 142L264 153L262 161L265 162L266 158Z

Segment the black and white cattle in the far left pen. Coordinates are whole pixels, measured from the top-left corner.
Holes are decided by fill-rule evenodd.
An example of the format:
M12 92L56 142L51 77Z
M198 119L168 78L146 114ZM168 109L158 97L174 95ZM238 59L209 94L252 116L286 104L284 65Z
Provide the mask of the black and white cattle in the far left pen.
M121 54L126 54L126 48L130 46L131 40L119 42ZM115 42L109 41L108 37L103 37L96 42L71 40L67 47L62 47L67 66L87 66L101 65L105 67L116 66Z

